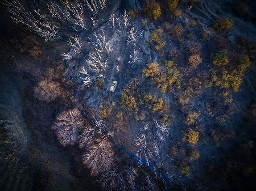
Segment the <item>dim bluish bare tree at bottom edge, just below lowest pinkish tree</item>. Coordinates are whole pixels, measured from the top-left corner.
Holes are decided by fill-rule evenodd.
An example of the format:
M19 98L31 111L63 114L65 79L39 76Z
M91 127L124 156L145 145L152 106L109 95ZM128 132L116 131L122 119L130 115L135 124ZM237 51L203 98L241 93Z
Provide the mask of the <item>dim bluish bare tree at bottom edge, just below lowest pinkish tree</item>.
M102 173L98 182L101 182L104 190L127 190L125 176L123 176L123 172L119 172L117 169Z

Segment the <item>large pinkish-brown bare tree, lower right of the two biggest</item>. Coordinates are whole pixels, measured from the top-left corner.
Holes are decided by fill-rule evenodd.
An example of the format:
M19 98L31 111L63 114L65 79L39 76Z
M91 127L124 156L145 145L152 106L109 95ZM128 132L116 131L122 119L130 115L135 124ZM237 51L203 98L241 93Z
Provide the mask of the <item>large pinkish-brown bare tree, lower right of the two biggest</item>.
M107 139L96 139L96 144L88 147L82 156L83 163L91 169L92 175L110 171L114 162L114 149Z

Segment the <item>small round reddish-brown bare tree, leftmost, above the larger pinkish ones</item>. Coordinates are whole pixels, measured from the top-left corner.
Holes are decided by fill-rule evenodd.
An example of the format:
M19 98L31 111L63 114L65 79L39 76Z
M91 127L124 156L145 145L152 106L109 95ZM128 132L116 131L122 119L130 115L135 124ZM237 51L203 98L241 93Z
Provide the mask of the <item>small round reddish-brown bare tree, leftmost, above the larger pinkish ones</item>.
M63 92L63 88L61 88L59 82L50 80L42 80L34 88L34 96L47 103L56 100L57 97L63 96Z

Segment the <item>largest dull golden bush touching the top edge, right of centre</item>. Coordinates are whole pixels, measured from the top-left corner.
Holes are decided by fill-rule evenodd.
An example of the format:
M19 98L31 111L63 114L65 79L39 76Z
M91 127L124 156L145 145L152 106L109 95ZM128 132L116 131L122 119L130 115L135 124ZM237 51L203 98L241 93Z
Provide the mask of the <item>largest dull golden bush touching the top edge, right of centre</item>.
M144 10L148 18L154 20L158 20L162 14L161 7L155 0L147 0L144 4Z

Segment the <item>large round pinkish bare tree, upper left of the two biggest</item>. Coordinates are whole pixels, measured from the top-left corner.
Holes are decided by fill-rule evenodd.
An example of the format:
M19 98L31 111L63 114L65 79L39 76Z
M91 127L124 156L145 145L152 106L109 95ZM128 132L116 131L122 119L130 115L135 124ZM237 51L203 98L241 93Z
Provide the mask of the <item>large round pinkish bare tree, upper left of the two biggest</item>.
M74 145L83 128L82 114L79 109L69 109L60 113L56 117L52 129L55 130L57 138L61 145Z

